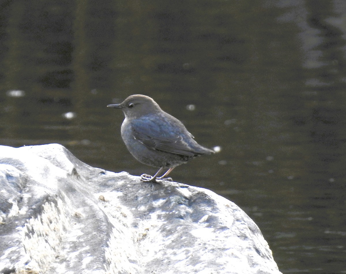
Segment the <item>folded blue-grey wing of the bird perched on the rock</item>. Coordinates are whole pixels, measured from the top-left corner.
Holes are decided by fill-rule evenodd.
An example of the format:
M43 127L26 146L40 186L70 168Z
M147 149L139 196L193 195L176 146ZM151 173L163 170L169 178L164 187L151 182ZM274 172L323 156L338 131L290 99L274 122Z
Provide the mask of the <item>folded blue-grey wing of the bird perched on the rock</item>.
M131 121L136 140L149 149L156 149L183 156L206 153L179 120L166 117L142 117Z

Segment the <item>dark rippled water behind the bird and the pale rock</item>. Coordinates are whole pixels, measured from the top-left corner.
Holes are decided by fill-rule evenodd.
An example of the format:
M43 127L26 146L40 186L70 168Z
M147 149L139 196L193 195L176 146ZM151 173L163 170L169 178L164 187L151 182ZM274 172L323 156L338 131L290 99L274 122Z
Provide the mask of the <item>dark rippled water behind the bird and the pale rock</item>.
M282 272L346 273L345 57L345 1L2 0L0 144L154 173L106 107L151 96L221 147L174 180L242 207Z

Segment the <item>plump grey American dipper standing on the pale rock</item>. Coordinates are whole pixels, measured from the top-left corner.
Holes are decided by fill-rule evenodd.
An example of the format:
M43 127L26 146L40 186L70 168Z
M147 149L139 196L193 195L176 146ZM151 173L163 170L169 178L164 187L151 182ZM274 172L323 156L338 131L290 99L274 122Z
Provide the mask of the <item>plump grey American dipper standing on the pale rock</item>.
M182 122L164 112L148 96L131 95L121 104L107 107L120 108L124 112L121 137L132 156L145 165L160 168L154 176L142 174L143 182L156 182L176 166L196 156L214 153L193 140ZM168 168L166 173L157 177L165 168Z

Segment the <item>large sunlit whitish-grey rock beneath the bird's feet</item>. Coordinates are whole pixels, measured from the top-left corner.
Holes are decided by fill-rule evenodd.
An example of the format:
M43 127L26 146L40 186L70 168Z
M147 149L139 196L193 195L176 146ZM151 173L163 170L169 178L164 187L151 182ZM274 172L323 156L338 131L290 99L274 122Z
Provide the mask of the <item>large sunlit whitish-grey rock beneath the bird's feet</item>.
M0 273L280 273L233 202L93 168L59 144L0 146Z

